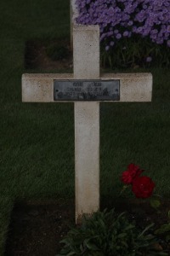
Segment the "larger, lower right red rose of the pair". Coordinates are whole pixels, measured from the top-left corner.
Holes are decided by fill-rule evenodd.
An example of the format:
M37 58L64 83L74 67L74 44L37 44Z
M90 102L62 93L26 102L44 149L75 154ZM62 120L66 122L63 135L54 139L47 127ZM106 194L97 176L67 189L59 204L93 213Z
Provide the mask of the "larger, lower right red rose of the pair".
M154 188L155 183L153 183L150 177L143 176L133 179L132 190L137 198L150 197Z

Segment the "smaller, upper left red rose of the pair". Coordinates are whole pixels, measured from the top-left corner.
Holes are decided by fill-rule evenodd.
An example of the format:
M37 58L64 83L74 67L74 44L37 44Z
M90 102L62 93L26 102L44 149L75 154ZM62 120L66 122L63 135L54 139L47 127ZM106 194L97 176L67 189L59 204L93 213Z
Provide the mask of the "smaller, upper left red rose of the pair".
M130 164L127 166L127 171L122 172L121 180L125 184L131 184L135 177L139 177L139 175L144 172L139 169L139 166L135 166L134 164Z

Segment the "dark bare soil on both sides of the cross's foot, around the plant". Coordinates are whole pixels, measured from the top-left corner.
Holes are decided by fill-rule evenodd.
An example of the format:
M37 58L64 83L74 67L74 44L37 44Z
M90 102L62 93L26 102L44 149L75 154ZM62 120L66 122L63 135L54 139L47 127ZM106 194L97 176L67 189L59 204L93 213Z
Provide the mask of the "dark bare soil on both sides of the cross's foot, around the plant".
M104 201L101 209L115 207L116 212L128 212L131 219L143 226L154 222L156 227L168 220L167 212L170 201L164 201L161 212L148 203L139 201ZM73 200L27 201L17 203L11 215L5 256L55 256L59 253L63 239L75 223L75 204ZM160 240L160 249L167 249L170 244Z

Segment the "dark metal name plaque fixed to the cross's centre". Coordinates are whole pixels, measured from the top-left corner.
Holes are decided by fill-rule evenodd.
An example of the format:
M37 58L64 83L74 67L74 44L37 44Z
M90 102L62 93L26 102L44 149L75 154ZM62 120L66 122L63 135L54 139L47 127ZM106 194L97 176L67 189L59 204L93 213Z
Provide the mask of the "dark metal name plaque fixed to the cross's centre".
M54 80L54 101L120 101L120 80Z

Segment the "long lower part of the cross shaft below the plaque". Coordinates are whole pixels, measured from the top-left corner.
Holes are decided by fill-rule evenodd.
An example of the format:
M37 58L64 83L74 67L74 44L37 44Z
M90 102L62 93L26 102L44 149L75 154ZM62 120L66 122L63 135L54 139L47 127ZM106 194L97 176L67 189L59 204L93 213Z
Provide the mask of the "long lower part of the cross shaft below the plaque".
M76 219L99 210L99 102L75 102Z

